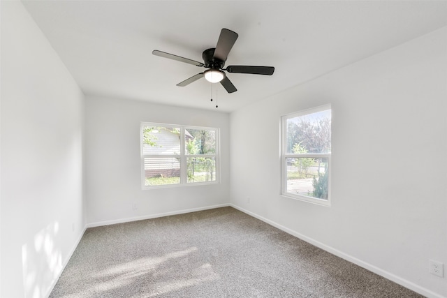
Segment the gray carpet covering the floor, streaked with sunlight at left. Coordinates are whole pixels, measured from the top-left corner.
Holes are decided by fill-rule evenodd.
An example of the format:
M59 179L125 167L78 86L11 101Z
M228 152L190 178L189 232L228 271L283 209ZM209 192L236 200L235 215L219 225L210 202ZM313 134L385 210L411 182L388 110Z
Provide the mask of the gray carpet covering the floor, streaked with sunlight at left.
M56 297L422 296L225 207L87 229Z

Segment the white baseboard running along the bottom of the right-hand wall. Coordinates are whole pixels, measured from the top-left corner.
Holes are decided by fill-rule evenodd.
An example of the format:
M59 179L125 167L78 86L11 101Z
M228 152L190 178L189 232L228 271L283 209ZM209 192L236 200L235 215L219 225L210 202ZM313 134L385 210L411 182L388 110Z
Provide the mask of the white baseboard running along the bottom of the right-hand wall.
M275 223L274 221L270 221L270 219L264 218L263 216L259 216L258 214L255 214L251 211L248 211L247 209L244 209L242 207L239 207L235 204L230 204L230 207L233 207L239 211L244 212L245 214L248 214L249 216L253 216L254 218L258 218L259 220L268 223L269 225L274 226L275 228L278 228L279 230L282 230L288 234L291 234L294 237L297 237L299 239L302 239L303 241L308 242L309 244L312 244L318 248L323 249L324 251L328 251L329 253L332 253L333 255L337 255L337 257L342 258L344 260L347 260L353 264L356 264L360 267L363 267L369 271L374 272L375 274L378 274L380 276L383 276L384 278L389 279L390 281L393 281L399 285L402 285L405 288L408 288L410 290L413 290L414 292L419 293L420 295L423 295L425 297L429 298L446 298L444 296L439 295L438 293L432 292L431 290L428 290L426 288L421 287L420 285L416 285L416 283L412 283L411 281L407 281L404 278L401 278L400 276L397 276L395 274L392 274L386 270L383 270L379 267L376 267L374 265L371 265L367 262L364 262L362 260L359 260L358 258L355 258L351 255L348 255L346 253L343 253L342 251L339 251L335 248L332 248L330 246L327 246L319 241L316 241L315 239L312 239L310 237L307 237L303 234L300 234L298 232L295 232L294 230L291 230L289 228L284 227L284 225L280 225L279 223Z

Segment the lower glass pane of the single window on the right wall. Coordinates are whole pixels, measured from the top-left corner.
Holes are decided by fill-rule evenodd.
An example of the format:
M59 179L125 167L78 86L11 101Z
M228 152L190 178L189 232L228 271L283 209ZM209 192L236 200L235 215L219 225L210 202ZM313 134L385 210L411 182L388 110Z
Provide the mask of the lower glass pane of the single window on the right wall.
M328 200L328 158L287 158L286 192Z

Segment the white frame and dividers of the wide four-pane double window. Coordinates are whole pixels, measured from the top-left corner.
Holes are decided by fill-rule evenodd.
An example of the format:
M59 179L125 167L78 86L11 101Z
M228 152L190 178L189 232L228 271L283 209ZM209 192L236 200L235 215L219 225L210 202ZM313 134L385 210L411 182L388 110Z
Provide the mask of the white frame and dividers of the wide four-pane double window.
M159 126L159 127L175 127L180 128L180 155L177 156L180 159L180 183L179 184L162 184L154 186L145 185L145 158L163 158L172 157L156 154L143 154L143 128L145 126ZM214 131L216 133L216 154L186 154L185 147L185 130L195 129L195 130L207 130ZM187 179L187 165L186 158L193 157L203 157L203 158L215 158L216 161L216 180L215 181L203 181L203 182L188 182ZM215 127L203 127L203 126L187 126L179 124L166 124L166 123L156 123L156 122L140 122L140 165L141 165L141 188L142 190L155 189L155 188L173 188L182 186L203 186L210 184L220 184L220 129Z

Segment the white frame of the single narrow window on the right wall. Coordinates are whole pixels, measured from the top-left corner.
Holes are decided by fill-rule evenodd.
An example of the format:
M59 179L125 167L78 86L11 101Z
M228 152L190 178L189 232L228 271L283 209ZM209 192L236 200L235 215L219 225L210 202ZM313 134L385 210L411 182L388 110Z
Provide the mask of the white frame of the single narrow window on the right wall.
M325 110L330 110L332 114L332 109L330 104L328 105L321 105L319 107L313 107L307 110L302 110L299 112L293 112L291 114L286 114L281 117L281 195L287 198L292 198L295 200L300 200L303 202L310 202L313 204L319 204L323 206L330 207L331 204L331 172L332 172L332 165L331 165L331 153L329 154L321 154L321 153L307 153L307 154L288 154L287 153L287 120L292 119L295 117L302 117L307 114L313 114L316 112L322 112ZM332 131L332 125L331 125L331 131ZM331 141L332 142L332 141ZM332 150L331 150L332 151ZM328 200L320 199L320 198L314 198L307 195L298 195L295 193L288 193L287 192L287 158L328 158Z

